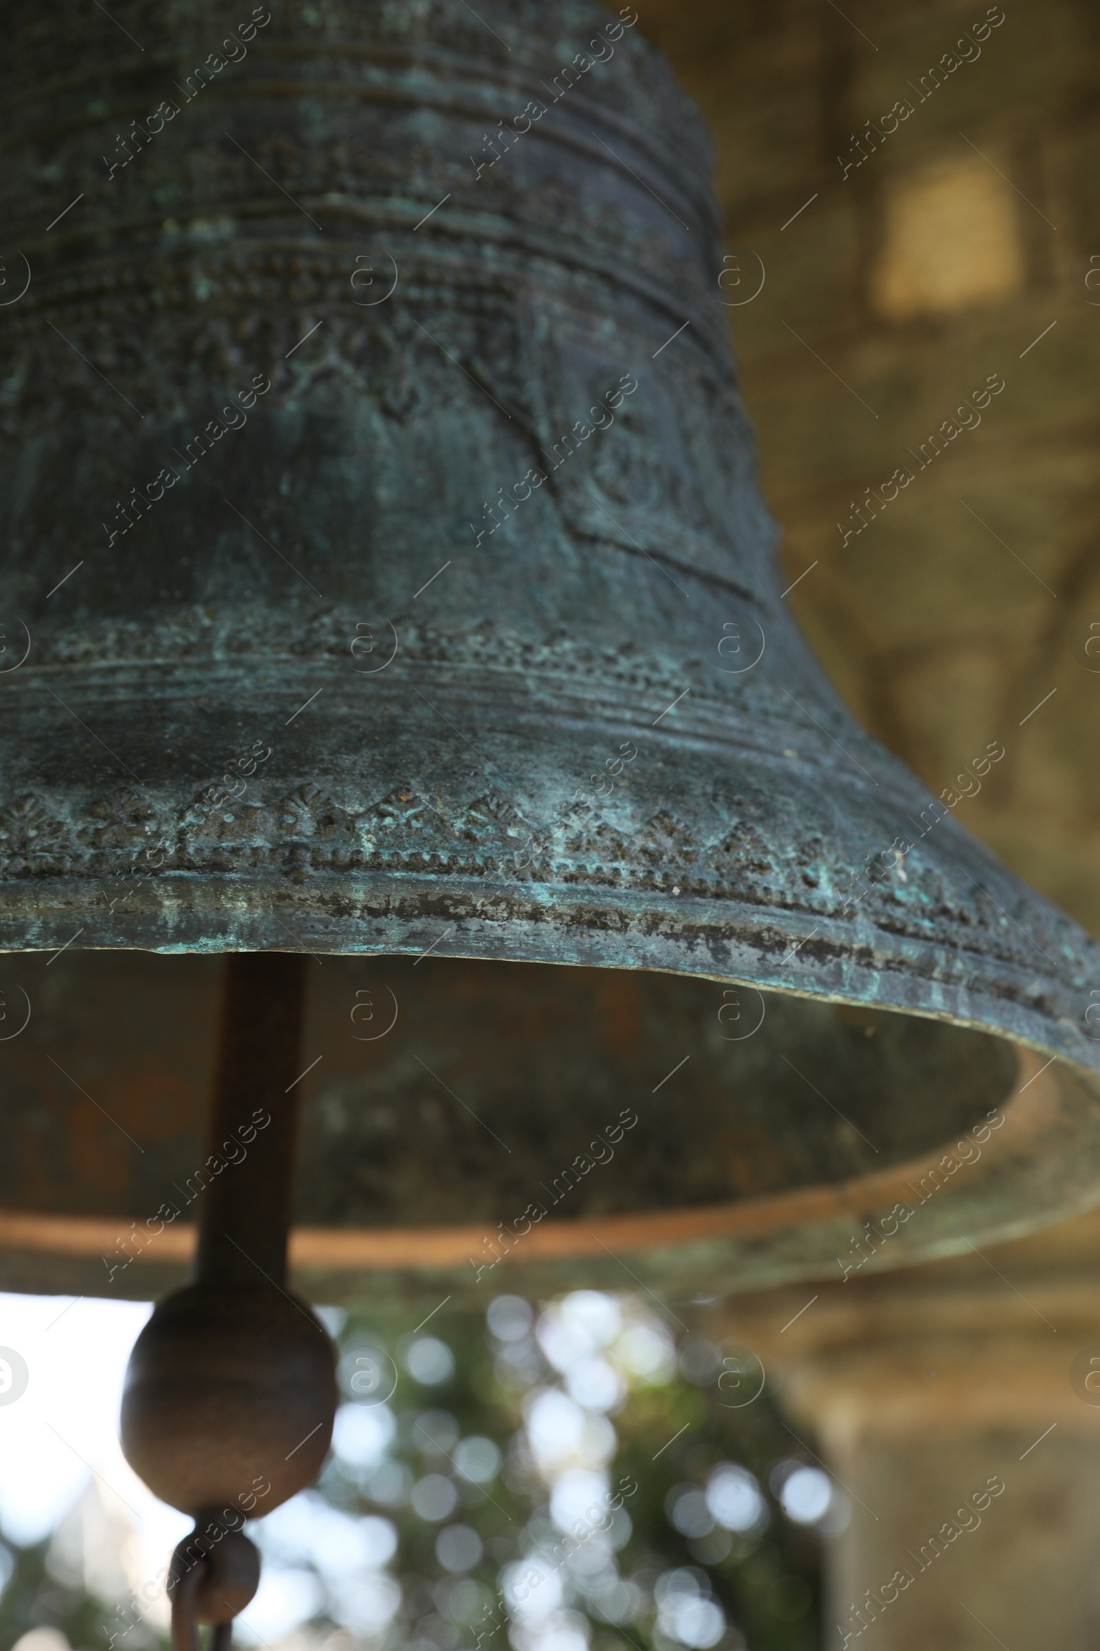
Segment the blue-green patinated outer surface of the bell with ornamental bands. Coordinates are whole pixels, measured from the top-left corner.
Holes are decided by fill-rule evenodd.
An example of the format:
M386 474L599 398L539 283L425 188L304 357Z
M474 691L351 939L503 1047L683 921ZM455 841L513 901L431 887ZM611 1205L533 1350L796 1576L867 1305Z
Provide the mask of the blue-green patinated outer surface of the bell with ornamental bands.
M0 943L981 1027L1060 1062L973 1222L1095 1197L1097 948L780 598L706 140L632 13L112 17L7 10Z

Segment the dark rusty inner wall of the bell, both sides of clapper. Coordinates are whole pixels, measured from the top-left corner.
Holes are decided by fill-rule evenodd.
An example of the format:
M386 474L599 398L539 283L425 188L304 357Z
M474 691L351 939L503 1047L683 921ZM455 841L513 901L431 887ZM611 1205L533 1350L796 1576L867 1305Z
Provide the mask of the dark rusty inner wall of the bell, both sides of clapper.
M312 1227L846 1182L980 1124L1018 1081L1014 1047L985 1032L689 976L429 954L318 956L307 979L295 1220ZM195 1217L219 982L216 956L0 959L3 1210Z

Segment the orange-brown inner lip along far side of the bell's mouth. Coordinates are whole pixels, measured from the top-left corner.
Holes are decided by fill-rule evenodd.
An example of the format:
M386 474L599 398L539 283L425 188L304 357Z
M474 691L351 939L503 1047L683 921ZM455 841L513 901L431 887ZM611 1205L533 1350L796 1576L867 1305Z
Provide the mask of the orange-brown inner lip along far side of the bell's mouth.
M998 1138L993 1151L986 1147L980 1154L986 1157L986 1167L981 1176L971 1176L961 1192L947 1182L948 1172L942 1169L955 1139L948 1136L947 1142L914 1159L843 1182L816 1182L711 1205L557 1218L518 1235L515 1256L505 1250L498 1261L485 1261L473 1278L467 1265L477 1263L468 1250L480 1245L483 1253L485 1245L493 1243L483 1227L297 1225L290 1232L290 1283L307 1299L336 1304L361 1301L376 1306L379 1296L386 1299L393 1294L406 1303L427 1301L445 1289L457 1306L472 1306L483 1299L482 1273L503 1263L501 1275L490 1286L498 1291L556 1294L594 1283L615 1288L617 1270L622 1273L625 1268L643 1289L717 1288L737 1293L836 1278L833 1268L839 1265L843 1270L844 1263L834 1251L848 1243L851 1253L854 1238L866 1237L853 1235L851 1228L861 1222L864 1227L874 1220L884 1223L891 1215L896 1218L894 1233L902 1242L884 1245L881 1261L872 1255L849 1265L849 1271L864 1265L871 1271L915 1266L963 1253L970 1247L963 1230L978 1232L983 1242L1016 1238L1100 1202L1097 1164L1087 1151L1092 1144L1092 1156L1100 1164L1100 1133L1090 1116L1074 1119L1072 1075L1060 1078L1051 1071L1052 1062L1041 1065L1042 1052L1021 1045L1014 1048L1016 1085L994 1108L1004 1114L1001 1123L970 1131L976 1134L978 1128L986 1128L986 1141L991 1129L1006 1128L1008 1133ZM1100 1108L1100 1080L1080 1068L1079 1076L1093 1109ZM1049 1139L1042 1139L1049 1133L1059 1142L1054 1151ZM968 1164L963 1159L955 1169ZM940 1192L940 1185L947 1195L937 1200L935 1227L917 1242L902 1232L896 1212L907 1207L904 1189L917 1195L914 1180L924 1187L937 1169L943 1180L933 1180L932 1192L927 1199L920 1197L920 1204ZM891 1200L894 1204L887 1210ZM994 1204L1001 1207L999 1215L993 1213ZM915 1212L910 1209L910 1213ZM112 1217L0 1210L0 1288L8 1288L8 1278L20 1275L21 1268L33 1266L33 1258L46 1270L49 1261L81 1265L86 1260L89 1283L84 1293L96 1294L92 1263L101 1261L117 1232L119 1220ZM534 1242L524 1245L524 1237ZM150 1299L183 1283L195 1243L193 1223L165 1227L135 1258L135 1273L122 1294ZM618 1251L625 1251L640 1273L627 1266ZM20 1276L15 1288L26 1288ZM618 1276L618 1288L628 1289L630 1284ZM41 1293L69 1289L66 1283Z

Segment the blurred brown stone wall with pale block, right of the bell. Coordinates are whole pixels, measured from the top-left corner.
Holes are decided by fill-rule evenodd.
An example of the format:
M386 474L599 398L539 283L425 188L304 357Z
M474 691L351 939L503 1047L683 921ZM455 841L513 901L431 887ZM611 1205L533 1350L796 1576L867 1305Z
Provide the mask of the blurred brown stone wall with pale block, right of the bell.
M958 817L1100 933L1100 8L637 7L717 144L806 636L933 791L1004 743Z

